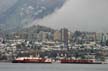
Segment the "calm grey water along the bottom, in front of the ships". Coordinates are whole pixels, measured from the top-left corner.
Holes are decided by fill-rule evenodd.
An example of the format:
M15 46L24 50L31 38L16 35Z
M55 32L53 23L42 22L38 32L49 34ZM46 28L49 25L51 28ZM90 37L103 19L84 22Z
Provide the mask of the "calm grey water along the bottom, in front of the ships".
M0 71L108 71L108 64L12 64L12 63L0 63Z

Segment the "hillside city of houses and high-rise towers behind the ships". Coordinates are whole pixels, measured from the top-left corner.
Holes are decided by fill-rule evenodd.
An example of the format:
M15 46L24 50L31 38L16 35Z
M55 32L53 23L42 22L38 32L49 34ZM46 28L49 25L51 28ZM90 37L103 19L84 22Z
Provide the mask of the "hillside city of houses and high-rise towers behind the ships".
M66 62L63 63L84 63L89 60L108 62L107 33L70 32L66 28L59 31L40 25L31 28L31 34L28 31L14 32L0 38L0 61L11 62L21 57L25 60L37 57L43 61L52 59L60 62L64 59Z

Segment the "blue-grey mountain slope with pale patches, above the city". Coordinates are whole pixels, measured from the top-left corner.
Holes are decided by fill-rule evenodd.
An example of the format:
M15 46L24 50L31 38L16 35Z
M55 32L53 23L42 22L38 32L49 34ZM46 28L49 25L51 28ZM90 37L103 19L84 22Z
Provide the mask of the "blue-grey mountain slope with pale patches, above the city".
M41 19L64 4L65 0L17 0L0 16L0 27L4 30L19 29Z

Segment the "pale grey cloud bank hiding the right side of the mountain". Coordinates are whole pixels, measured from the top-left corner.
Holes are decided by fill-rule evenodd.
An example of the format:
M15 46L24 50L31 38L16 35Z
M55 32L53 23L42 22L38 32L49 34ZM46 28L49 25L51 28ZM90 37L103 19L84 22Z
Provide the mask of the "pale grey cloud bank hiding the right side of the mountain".
M108 32L108 0L68 0L53 15L38 24L71 31Z

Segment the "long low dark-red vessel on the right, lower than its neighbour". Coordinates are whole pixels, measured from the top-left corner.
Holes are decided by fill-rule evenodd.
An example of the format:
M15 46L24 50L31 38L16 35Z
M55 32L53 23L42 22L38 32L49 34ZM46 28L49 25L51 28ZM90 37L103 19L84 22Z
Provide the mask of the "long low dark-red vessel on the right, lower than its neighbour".
M102 62L96 62L95 60L88 60L88 59L61 59L61 63L72 63L72 64L102 64Z

